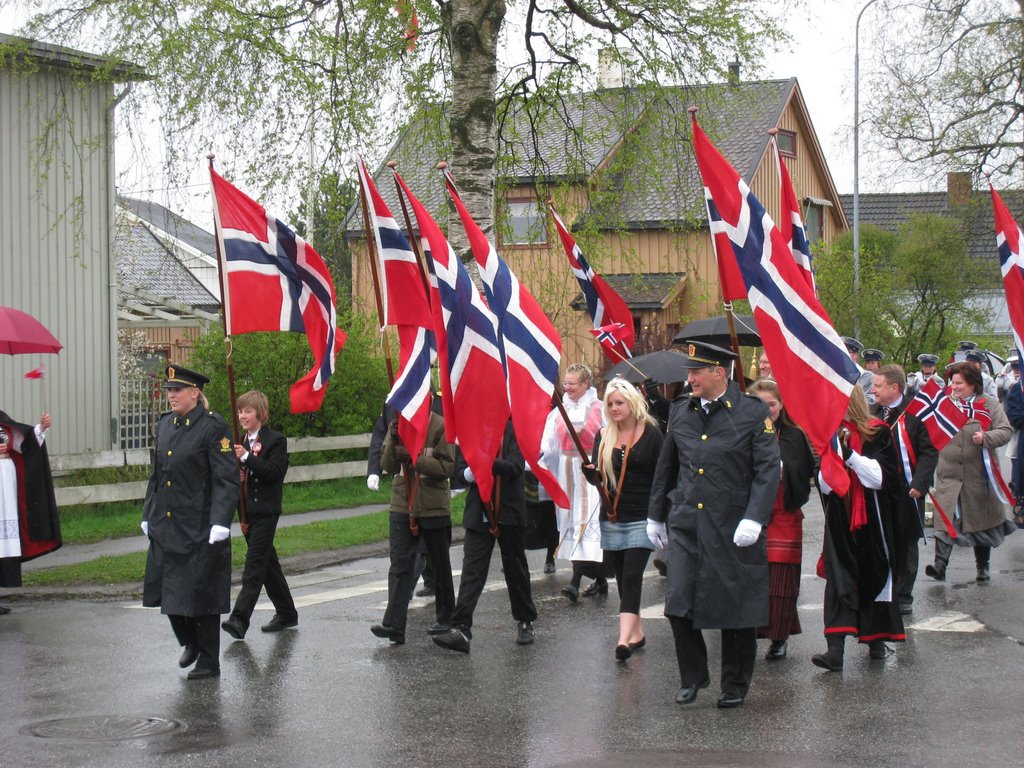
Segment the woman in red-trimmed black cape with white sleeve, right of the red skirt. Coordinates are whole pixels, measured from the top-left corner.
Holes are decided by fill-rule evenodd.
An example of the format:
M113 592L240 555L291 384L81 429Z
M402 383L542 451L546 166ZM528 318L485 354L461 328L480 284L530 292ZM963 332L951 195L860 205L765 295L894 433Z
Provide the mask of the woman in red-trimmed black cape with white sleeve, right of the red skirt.
M818 473L825 512L828 650L811 657L816 667L830 672L843 669L847 635L866 643L871 658L886 657L886 640L906 640L893 575L899 469L889 427L869 416L860 387L850 394L839 442L850 487L840 496Z

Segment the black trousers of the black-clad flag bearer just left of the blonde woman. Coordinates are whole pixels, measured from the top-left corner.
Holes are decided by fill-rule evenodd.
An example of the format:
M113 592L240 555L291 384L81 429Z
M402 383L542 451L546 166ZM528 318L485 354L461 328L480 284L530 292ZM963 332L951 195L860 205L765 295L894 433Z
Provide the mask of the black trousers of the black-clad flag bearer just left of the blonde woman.
M512 604L512 617L516 622L532 622L537 618L537 607L529 586L529 564L526 562L526 529L518 525L501 525L501 536L495 539L489 531L466 528L463 542L462 580L459 582L459 602L452 613L452 626L463 630L468 637L473 634L473 611L483 593L490 570L490 555L495 543L502 554L502 568L505 584Z

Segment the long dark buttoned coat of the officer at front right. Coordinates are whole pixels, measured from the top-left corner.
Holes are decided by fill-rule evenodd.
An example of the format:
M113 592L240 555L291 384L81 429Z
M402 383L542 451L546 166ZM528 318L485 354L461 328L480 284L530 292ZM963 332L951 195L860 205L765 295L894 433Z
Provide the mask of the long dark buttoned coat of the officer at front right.
M775 429L758 397L730 383L708 415L699 398L675 404L649 511L669 526L667 615L698 629L768 624L764 535L750 547L732 537L744 518L767 524L779 476Z

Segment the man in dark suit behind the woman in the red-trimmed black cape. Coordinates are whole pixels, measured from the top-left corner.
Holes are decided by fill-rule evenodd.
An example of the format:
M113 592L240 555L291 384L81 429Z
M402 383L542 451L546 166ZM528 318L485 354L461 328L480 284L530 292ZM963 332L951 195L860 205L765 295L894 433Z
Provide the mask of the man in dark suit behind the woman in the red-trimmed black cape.
M896 422L906 411L909 399L903 396L906 374L899 366L883 366L874 373L874 406L871 413L886 422L893 433L896 453L900 451L901 435L906 436L914 457L914 466L907 480L906 470L899 473L899 509L895 520L896 539L896 594L899 609L903 614L913 608L913 584L918 580L918 540L925 536L925 495L932 485L932 475L939 463L939 453L935 450L928 429L918 417L906 414L901 428ZM907 458L909 461L909 457ZM900 461L902 465L902 460Z

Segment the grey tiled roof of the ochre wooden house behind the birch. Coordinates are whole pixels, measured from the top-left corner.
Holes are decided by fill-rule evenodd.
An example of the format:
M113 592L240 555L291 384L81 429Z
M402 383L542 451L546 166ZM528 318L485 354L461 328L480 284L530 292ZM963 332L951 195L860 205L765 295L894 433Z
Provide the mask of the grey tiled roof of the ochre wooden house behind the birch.
M590 208L573 228L584 222L616 229L699 224L706 218L703 190L687 106L700 108L701 127L750 181L768 148L768 129L778 125L797 91L797 80L791 78L669 88L657 96L637 88L572 94L557 113L527 115L521 110L513 115L500 166L505 178L517 183L590 179ZM397 170L414 194L443 223L446 206L435 165L450 153L436 138L443 131L432 124L441 120L435 112L415 118L389 158L398 162ZM531 125L536 130L528 130ZM813 136L811 142L816 146ZM827 174L826 167L822 170ZM374 180L400 220L389 175L382 164ZM358 204L349 210L345 228L346 237L362 236Z

